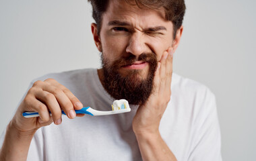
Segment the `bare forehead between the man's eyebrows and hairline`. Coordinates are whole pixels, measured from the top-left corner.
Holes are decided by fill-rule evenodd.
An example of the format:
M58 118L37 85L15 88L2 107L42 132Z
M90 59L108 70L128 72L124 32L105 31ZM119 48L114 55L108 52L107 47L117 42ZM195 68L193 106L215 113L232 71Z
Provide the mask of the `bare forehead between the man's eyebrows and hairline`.
M164 9L150 9L148 7L137 6L135 1L110 0L106 12L102 15L102 21L129 21L141 25L156 25L157 23L167 23L164 19Z

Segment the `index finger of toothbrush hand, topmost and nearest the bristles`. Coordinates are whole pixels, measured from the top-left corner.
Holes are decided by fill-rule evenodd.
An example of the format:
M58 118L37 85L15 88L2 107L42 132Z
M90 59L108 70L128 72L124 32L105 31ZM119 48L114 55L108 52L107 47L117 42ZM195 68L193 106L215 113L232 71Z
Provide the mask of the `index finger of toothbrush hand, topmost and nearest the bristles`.
M44 82L49 83L49 85L53 85L61 89L63 93L65 93L65 95L67 95L67 97L71 101L74 109L82 109L84 107L83 104L79 101L79 99L77 99L77 97L75 97L75 95L73 95L73 93L71 93L69 89L67 89L65 86L61 85L60 83L58 83L57 80L53 78L48 78L44 80Z

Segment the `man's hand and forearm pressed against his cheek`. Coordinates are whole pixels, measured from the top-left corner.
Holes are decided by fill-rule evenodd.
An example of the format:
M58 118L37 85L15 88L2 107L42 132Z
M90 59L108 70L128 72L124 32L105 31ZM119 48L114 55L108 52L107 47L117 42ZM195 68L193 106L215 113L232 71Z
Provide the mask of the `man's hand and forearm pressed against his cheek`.
M160 120L170 101L172 54L170 49L162 54L154 76L154 91L133 118L133 131L143 160L177 160L159 132Z

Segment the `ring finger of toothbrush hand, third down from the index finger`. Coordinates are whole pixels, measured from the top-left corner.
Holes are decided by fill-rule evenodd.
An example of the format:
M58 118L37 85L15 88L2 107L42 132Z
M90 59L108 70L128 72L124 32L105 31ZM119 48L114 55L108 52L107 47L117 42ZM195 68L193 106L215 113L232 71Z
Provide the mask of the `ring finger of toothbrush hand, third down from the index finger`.
M39 101L42 101L46 107L49 108L49 110L52 113L53 121L56 125L59 125L61 123L61 107L59 106L59 103L57 99L55 98L55 95L52 93L49 93L47 91L40 91L38 93L35 93L36 99Z

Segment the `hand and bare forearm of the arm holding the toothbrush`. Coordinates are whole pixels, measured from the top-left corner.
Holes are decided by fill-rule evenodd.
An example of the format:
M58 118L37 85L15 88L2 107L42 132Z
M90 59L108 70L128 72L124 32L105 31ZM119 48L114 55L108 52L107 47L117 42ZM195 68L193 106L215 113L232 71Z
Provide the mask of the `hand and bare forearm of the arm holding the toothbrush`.
M7 126L0 150L0 160L26 160L30 142L37 129L53 122L56 125L61 124L61 109L65 111L67 117L73 119L76 116L74 109L82 107L82 103L71 91L56 80L49 78L36 81ZM36 111L40 117L23 117L24 111Z

